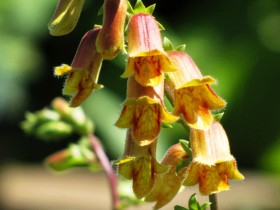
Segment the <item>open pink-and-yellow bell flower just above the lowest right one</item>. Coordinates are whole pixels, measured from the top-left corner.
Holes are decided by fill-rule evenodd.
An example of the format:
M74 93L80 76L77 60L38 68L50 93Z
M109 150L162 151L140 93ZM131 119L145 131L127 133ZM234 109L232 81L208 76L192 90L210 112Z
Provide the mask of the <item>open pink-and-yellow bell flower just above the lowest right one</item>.
M177 71L168 73L165 88L174 100L173 114L183 115L186 123L196 129L207 129L213 117L210 110L222 109L226 102L210 88L215 80L203 77L193 60L184 52L170 52Z

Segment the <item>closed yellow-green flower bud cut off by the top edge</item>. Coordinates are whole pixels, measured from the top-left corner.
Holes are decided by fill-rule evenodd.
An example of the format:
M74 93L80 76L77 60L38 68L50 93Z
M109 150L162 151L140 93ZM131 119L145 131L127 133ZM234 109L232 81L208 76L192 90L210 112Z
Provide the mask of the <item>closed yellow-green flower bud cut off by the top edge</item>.
M76 26L85 0L59 0L48 27L53 36L70 33Z

